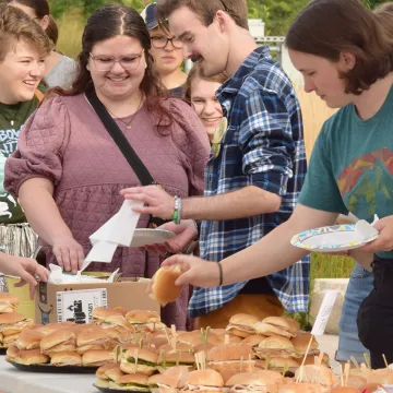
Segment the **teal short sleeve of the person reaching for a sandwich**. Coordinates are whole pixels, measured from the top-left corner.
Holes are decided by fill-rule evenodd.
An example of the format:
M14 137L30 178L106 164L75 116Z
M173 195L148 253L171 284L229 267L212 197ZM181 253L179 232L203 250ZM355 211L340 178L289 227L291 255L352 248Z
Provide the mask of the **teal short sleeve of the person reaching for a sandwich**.
M324 126L313 146L298 202L324 212L348 214L334 178L326 132Z

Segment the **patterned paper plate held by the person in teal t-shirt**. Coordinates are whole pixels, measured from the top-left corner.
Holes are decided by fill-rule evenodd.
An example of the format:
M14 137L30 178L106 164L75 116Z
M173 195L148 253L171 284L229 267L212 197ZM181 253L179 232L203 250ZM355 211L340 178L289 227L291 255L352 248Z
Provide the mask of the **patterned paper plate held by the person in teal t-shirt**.
M377 237L378 234L369 238L360 238L355 231L355 224L345 224L305 230L295 235L290 243L309 251L337 252L356 249Z

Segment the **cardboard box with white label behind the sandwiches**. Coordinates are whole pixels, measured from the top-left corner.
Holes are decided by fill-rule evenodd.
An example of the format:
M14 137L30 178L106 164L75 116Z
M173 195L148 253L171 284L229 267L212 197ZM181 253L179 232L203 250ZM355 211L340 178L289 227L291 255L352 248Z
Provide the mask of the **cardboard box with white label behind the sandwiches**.
M102 284L39 283L35 297L35 321L43 324L63 321L90 323L93 309L100 306L159 313L158 302L146 294L148 282L145 278L120 278Z

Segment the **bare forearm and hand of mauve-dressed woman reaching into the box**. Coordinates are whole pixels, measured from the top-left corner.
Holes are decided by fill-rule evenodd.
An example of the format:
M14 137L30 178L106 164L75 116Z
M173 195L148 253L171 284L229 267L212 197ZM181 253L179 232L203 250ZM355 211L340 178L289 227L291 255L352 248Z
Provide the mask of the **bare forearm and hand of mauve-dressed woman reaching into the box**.
M50 246L60 266L76 271L82 266L84 252L62 219L53 200L53 184L45 178L32 178L22 183L19 199L28 223Z

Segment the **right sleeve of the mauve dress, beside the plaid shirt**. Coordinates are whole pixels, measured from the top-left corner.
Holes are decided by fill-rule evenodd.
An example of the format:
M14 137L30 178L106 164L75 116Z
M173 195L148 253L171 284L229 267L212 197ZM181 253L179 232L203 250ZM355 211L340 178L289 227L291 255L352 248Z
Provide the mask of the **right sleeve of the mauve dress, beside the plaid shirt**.
M178 98L170 100L170 112L176 120L172 138L186 164L189 194L201 195L211 150L209 136L201 120L188 104Z

